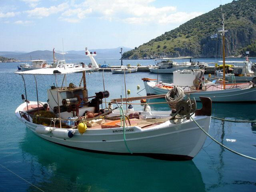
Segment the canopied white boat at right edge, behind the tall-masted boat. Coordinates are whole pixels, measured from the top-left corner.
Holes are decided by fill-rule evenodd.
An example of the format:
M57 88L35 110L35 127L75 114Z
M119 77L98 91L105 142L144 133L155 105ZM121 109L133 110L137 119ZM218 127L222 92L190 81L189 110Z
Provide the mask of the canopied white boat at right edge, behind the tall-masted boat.
M252 71L252 62L246 59L246 61L225 61L228 64L232 64L234 70L232 69L232 73L226 73L225 77L226 80L230 81L237 81L237 82L256 82L256 72ZM222 62L221 62L222 63ZM235 70L236 69L236 70ZM217 77L223 77L223 69L216 71Z

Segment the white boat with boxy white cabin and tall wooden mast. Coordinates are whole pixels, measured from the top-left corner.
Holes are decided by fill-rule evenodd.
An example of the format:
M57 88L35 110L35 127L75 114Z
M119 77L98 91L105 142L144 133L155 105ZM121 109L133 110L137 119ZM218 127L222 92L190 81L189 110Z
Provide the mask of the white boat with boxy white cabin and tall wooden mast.
M222 15L223 50L225 42L224 16ZM255 102L256 101L256 80L247 83L226 83L225 80L225 51L223 51L223 80L208 82L204 80L203 72L197 70L178 70L173 73L172 84L152 81L143 78L147 95L166 94L175 86L181 87L186 94L199 101L200 96L209 97L212 102ZM164 96L164 95L162 95Z

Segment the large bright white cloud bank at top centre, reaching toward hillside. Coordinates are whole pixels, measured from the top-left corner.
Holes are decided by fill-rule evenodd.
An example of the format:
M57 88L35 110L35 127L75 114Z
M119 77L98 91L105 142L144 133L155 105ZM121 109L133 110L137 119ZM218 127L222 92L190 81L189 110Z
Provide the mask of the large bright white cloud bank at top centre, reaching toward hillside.
M77 9L67 10L62 13L62 17L76 16L77 19L83 19L86 14L95 14L101 19L122 21L128 24L155 23L166 25L186 22L202 14L178 12L175 6L158 8L151 5L152 2L154 0L87 0L82 4L74 4L72 1L72 6ZM86 10L90 10L90 12Z

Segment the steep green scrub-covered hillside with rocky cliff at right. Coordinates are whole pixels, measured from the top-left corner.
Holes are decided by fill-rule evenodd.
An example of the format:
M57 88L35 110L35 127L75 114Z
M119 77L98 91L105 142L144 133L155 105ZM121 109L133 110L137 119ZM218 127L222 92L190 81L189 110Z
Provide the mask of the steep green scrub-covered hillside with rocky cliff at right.
M256 56L256 0L237 0L222 6L226 36L226 56ZM221 6L165 32L147 43L125 52L123 58L220 57L222 36ZM218 33L218 38L210 38Z

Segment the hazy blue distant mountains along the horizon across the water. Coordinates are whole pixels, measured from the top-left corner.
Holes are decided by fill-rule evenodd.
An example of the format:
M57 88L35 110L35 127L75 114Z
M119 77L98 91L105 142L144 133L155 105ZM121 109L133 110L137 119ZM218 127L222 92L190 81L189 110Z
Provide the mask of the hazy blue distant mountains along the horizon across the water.
M110 58L114 58L114 59L118 59L121 58L121 54L120 54L120 48L113 48L113 49L95 49L95 50L90 50L90 48L88 49L91 52L96 51L96 58L98 59L110 59ZM126 51L131 50L131 48L126 48L123 47L123 53ZM8 58L14 58L16 60L38 60L38 59L44 59L44 60L53 60L53 53L52 51L49 50L38 50L38 51L33 51L33 52L29 52L29 53L24 53L24 52L5 52L2 51L0 52L0 56L3 57L8 57ZM63 59L63 54L61 51L55 51L54 54L56 59ZM85 55L85 50L83 51L67 51L64 54L64 58L65 60L81 60L81 59L86 59L88 57L86 57Z

